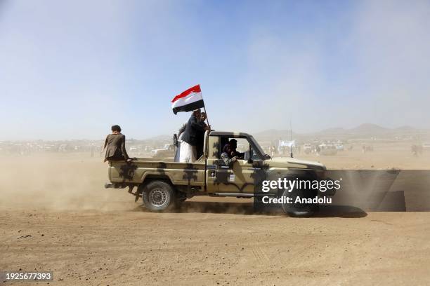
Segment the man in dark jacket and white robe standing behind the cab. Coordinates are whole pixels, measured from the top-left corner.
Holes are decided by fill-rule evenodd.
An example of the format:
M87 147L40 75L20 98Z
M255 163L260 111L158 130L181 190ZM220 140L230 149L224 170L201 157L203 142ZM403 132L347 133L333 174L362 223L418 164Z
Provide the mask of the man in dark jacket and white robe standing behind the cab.
M187 127L183 132L181 151L179 154L179 161L182 163L193 163L196 161L198 133L204 132L204 130L211 130L209 125L204 127L204 125L200 122L201 115L202 113L200 109L193 111L193 114L188 120Z

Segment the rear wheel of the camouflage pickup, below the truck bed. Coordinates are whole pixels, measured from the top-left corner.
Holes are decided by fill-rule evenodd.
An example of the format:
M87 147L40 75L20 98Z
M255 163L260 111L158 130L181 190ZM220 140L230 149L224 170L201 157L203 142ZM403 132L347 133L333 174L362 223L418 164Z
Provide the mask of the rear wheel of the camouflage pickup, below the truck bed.
M143 205L152 212L162 212L174 208L175 192L163 181L153 181L146 185L142 193Z

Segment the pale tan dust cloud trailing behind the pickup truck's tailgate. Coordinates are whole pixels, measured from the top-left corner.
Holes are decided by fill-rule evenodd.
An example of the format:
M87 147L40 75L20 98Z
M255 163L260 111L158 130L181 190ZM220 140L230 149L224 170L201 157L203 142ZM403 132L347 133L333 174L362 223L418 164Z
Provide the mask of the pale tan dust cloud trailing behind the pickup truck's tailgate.
M2 156L0 207L47 210L124 210L124 190L104 189L107 163L82 154Z

